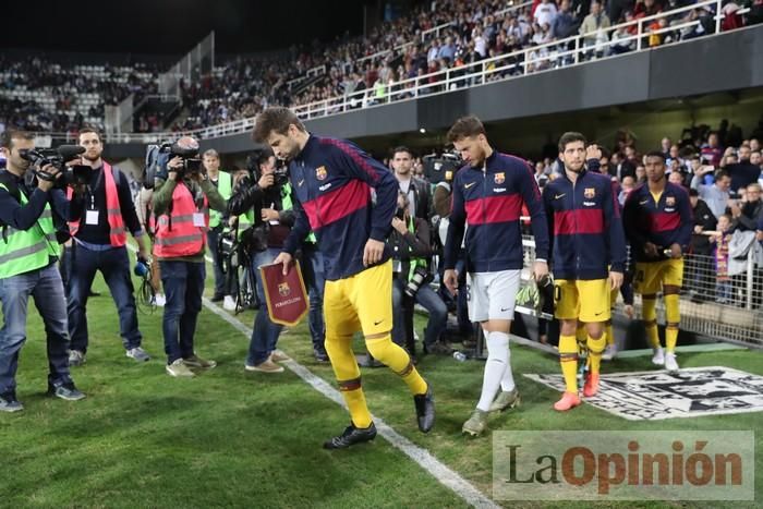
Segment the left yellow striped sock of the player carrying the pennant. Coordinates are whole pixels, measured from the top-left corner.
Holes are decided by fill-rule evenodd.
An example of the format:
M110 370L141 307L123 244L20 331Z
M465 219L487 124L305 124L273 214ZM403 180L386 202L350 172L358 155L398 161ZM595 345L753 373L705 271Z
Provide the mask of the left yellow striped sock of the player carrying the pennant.
M371 426L371 412L361 386L361 371L352 352L352 336L326 335L325 344L352 424L360 428Z

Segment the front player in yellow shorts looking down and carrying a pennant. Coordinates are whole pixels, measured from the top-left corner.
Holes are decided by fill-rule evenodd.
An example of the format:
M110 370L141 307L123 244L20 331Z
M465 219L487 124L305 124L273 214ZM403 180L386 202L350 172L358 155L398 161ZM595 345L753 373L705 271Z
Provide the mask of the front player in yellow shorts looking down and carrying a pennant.
M385 240L397 209L398 182L384 165L355 145L308 133L288 108L268 108L261 113L253 137L289 161L294 193L294 226L274 263L283 264L286 274L311 230L324 254L326 352L352 420L324 447L343 449L376 437L352 352L358 330L365 336L368 353L408 384L419 429L427 433L435 422L432 389L390 335L392 262ZM373 207L372 190L376 192Z

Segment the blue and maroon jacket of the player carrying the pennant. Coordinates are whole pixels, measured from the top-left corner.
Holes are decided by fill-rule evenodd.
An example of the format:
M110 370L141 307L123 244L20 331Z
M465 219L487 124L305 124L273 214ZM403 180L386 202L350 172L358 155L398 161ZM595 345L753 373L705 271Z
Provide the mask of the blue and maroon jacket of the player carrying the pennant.
M395 175L350 142L311 135L289 163L289 178L294 226L283 251L293 255L312 230L324 255L327 280L363 271L366 242L385 242L391 229L398 206ZM379 264L389 257L385 243Z

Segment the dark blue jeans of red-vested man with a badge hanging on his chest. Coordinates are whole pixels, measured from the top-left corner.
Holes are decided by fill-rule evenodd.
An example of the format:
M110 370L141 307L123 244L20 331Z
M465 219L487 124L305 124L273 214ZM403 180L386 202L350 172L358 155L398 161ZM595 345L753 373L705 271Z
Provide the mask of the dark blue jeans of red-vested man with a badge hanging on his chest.
M110 247L104 251L90 251L74 241L68 253L69 274L69 334L72 338L71 349L87 351L87 298L90 294L93 279L100 270L109 287L111 298L119 313L119 331L125 350L141 346L143 336L137 328L137 308L135 307L135 289L130 272L128 249Z

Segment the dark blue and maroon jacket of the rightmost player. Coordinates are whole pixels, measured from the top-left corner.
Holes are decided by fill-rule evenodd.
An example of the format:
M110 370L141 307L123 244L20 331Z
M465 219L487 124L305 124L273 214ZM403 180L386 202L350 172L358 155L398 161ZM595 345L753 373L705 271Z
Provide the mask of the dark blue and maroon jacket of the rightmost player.
M673 244L680 245L683 253L689 250L694 218L689 193L681 186L666 182L665 190L656 203L647 184L638 186L626 199L622 220L637 262L665 259L662 251ZM657 246L657 251L661 252L658 258L645 256L646 242Z

